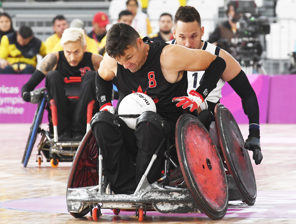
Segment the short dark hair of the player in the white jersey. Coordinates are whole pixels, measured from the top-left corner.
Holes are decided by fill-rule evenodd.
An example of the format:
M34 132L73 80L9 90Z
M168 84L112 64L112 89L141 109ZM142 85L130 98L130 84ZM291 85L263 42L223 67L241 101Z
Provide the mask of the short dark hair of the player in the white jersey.
M176 12L175 15L175 26L178 21L181 21L183 23L189 23L197 21L198 24L201 25L200 21L200 14L197 12L197 10L192 6L180 6Z

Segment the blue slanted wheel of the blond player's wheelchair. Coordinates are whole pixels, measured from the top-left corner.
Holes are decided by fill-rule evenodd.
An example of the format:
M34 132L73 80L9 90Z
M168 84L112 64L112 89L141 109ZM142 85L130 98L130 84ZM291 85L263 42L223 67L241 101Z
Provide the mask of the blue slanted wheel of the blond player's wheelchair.
M33 123L32 123L32 126L30 128L30 134L29 134L29 137L28 137L28 141L27 141L27 145L26 145L26 148L25 148L24 156L23 156L23 159L22 159L22 163L24 164L24 167L27 166L28 161L30 159L30 156L31 156L31 153L32 153L32 150L33 150L33 146L35 144L36 137L37 137L37 134L38 134L38 129L40 129L40 124L41 124L41 121L42 121L45 104L46 104L46 93L44 94L41 102L38 103L37 110L35 112L35 116L34 116L34 119L33 119Z

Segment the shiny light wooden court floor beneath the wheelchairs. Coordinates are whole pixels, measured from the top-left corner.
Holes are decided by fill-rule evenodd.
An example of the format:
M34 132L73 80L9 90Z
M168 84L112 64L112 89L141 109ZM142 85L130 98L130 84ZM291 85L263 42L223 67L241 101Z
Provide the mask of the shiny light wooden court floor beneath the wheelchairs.
M36 146L28 166L21 164L31 124L0 124L0 223L138 223L133 213L75 219L67 212L66 186L71 163L38 167ZM244 138L248 125L239 125ZM263 160L253 163L258 196L253 206L230 201L222 220L202 214L149 212L144 223L296 223L296 125L260 125ZM39 143L38 139L36 144ZM250 157L252 154L250 154Z

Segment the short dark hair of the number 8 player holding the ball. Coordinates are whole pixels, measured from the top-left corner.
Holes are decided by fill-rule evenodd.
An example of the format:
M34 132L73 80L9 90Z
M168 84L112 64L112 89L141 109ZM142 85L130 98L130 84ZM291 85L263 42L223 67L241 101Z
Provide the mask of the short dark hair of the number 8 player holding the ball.
M106 52L110 57L120 58L125 56L127 46L136 46L139 33L130 25L125 23L113 24L107 33Z

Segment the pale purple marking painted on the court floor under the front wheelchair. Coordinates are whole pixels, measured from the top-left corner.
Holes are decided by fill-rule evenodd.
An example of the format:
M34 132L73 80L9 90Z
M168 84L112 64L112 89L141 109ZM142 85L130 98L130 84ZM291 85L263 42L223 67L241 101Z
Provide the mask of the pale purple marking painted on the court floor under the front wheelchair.
M68 213L66 196L32 198L0 203L1 208L36 212ZM111 209L102 209L103 215L114 215ZM134 215L134 212L120 212ZM205 214L162 214L147 212L148 216L207 217ZM115 215L114 215L115 216ZM256 202L248 206L242 201L230 201L225 217L229 218L296 218L296 191L258 191Z

